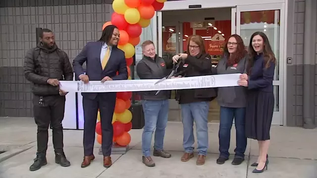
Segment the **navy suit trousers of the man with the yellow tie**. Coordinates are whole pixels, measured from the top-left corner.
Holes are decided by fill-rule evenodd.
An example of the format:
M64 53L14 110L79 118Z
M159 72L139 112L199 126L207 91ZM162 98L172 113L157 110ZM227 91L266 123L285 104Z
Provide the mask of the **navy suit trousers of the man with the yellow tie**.
M104 97L108 94L109 97ZM97 97L90 99L83 97L84 109L84 154L90 156L94 152L95 132L98 108L100 110L100 122L102 128L102 151L104 156L110 156L112 147L112 116L115 106L115 94L98 93Z

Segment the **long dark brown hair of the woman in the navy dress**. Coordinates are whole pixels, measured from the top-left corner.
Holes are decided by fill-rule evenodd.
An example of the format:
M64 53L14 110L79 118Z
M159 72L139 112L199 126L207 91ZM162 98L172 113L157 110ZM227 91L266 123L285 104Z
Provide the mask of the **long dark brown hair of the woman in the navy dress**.
M250 44L248 47L248 54L249 54L249 63L248 63L248 67L247 67L248 74L251 73L251 67L254 64L255 57L257 56L257 52L254 50L254 48L252 46L252 40L257 35L260 35L263 39L263 55L264 55L265 69L269 68L271 62L273 62L274 64L276 62L275 55L272 51L271 45L269 44L267 36L263 32L255 32L251 36Z

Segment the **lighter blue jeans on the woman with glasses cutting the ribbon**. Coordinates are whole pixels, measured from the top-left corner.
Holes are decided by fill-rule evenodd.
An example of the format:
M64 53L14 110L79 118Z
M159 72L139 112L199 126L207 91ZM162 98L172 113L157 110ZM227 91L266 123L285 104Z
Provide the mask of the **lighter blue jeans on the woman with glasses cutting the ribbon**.
M192 153L194 150L194 121L200 155L207 155L208 150L208 110L209 102L193 102L181 104L183 123L183 147L185 152Z

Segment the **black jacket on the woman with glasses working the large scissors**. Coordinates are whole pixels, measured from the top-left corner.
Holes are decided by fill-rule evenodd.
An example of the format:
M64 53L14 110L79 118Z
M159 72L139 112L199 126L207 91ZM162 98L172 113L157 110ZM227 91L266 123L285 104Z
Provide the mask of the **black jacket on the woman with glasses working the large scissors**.
M177 73L174 75L182 77L195 77L216 74L211 64L211 56L209 54L199 54L197 56L188 57L180 61ZM176 100L179 104L187 104L192 102L211 101L217 96L215 88L206 89L179 89L176 90Z

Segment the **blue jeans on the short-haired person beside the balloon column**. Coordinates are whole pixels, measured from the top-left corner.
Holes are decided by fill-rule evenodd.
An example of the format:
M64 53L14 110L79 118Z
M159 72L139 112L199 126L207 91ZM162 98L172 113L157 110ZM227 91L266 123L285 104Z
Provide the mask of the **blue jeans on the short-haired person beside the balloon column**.
M166 100L142 100L145 126L142 134L143 156L150 156L152 135L154 136L154 149L163 150L164 134L168 118L169 104Z

